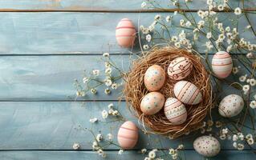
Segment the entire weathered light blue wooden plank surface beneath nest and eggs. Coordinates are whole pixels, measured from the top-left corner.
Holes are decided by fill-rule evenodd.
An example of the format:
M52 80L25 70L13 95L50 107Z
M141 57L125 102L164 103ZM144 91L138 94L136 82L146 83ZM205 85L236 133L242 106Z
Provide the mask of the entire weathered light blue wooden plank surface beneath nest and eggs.
M110 127L113 127L112 134L116 138L121 122L105 122L100 113L108 108L110 102L118 106L119 94L113 92L107 96L103 94L104 89L101 89L96 96L89 94L85 97L86 101L97 100L96 102L85 102L84 105L82 102L67 101L75 98L72 85L74 78L82 78L83 70L100 69L104 66L99 60L99 54L109 49L111 54L120 54L112 58L118 65L124 66L124 70L128 70L129 50L116 45L117 22L128 17L136 27L148 26L155 14L160 14L140 14L141 2L143 1L0 1L0 159L101 159L91 151L91 134L75 128L79 125L90 128L89 118L96 117L102 122L95 124L93 130L108 134ZM238 6L238 2L230 1L230 5ZM165 8L168 3L167 0L161 1ZM255 4L254 0L246 1L247 8L255 10ZM175 7L171 5L168 8ZM186 9L185 6L182 8ZM194 0L189 8L193 9L191 11L205 9L205 0ZM162 15L168 14L172 13ZM223 18L230 15L221 14ZM179 18L177 16L175 21L178 22ZM250 14L250 18L255 19L255 14ZM245 18L239 21L239 28L248 25ZM252 22L256 26L256 21ZM177 34L177 30L171 30L171 33ZM256 42L249 33L242 36ZM201 44L198 43L197 46L200 47ZM203 50L199 50L204 54ZM138 48L133 51L138 51ZM241 71L239 74L244 73ZM230 92L238 92L224 91L221 97ZM136 122L136 118L132 118L127 112L124 102L120 102L120 112L125 118ZM120 156L117 155L118 148L111 146L108 147L108 159L143 159L137 154L137 150L141 148L156 147L166 150L180 143L185 145L186 159L203 159L193 150L192 142L196 137L197 135L169 140L155 135L148 137L140 132L136 150L126 151ZM79 142L81 151L70 151L74 142ZM221 144L221 154L213 159L255 159L255 154L251 151L235 151L231 142Z

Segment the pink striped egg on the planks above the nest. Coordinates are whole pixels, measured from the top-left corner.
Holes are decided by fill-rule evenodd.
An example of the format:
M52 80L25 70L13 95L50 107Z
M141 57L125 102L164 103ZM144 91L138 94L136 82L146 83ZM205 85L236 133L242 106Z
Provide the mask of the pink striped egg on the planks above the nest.
M136 36L135 27L128 18L123 18L116 26L116 41L120 46L133 46Z

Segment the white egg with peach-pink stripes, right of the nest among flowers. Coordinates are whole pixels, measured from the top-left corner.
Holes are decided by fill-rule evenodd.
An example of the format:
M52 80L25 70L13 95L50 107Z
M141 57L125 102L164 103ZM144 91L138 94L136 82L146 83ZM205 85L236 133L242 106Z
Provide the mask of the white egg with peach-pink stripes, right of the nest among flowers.
M230 54L220 51L213 55L212 68L213 73L218 78L226 78L230 75L233 67L233 62Z

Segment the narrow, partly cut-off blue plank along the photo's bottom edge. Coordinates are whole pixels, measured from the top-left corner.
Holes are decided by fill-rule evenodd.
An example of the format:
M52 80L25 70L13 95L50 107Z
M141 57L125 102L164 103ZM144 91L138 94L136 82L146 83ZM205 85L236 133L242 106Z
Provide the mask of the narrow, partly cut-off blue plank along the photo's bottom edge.
M143 154L137 153L134 151L125 151L123 154L117 154L118 151L106 151L107 158L101 158L100 155L93 151L2 151L0 152L0 158L3 160L82 160L82 159L122 159L122 160L130 160L130 159L144 159L145 156ZM168 151L165 151L168 154ZM165 157L163 157L166 159ZM198 160L205 159L201 157L201 155L197 154L194 150L185 150L181 153L182 159L189 160ZM256 156L251 151L235 151L235 150L221 150L221 153L216 157L210 158L211 160L235 160L235 159L243 159L243 160L252 160L255 159ZM169 156L169 159L172 159Z

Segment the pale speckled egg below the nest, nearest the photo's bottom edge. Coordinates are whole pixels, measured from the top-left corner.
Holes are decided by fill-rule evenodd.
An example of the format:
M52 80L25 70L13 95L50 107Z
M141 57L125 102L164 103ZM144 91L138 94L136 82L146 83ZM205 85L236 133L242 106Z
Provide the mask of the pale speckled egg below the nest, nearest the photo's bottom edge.
M193 148L198 154L205 157L213 157L221 150L221 144L212 136L201 136L193 142Z

